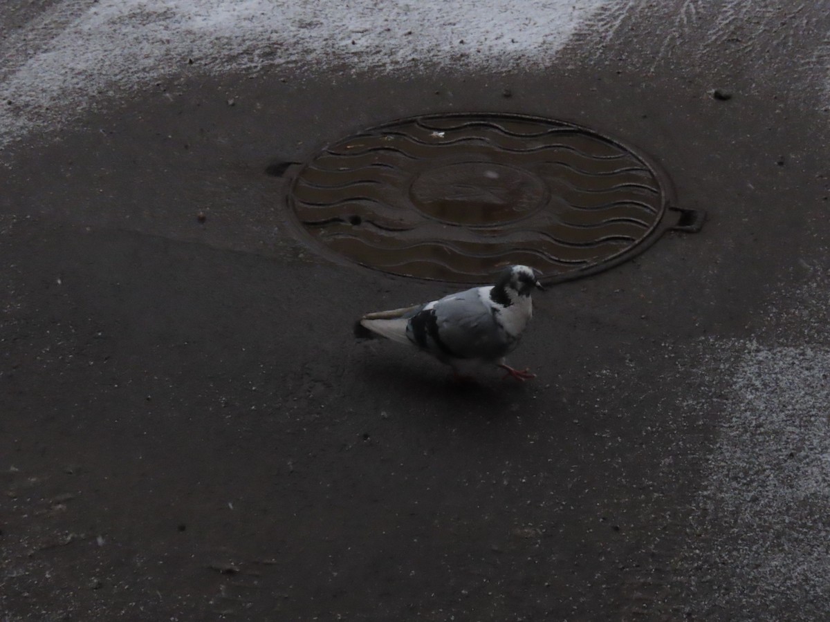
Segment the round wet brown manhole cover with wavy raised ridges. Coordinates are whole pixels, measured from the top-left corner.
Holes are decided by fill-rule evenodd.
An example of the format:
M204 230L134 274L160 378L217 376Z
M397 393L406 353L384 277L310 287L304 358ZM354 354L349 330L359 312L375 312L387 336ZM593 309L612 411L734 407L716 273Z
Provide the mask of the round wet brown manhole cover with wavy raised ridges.
M481 282L531 265L546 282L604 270L702 215L670 207L665 174L574 124L514 114L427 115L330 145L289 205L334 255L425 279Z

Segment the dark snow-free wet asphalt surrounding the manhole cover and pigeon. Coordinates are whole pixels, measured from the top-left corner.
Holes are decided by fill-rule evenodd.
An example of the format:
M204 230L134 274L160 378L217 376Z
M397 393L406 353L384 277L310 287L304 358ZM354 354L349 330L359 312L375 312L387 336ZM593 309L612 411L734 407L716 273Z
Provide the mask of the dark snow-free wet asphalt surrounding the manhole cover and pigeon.
M821 619L827 595L753 610L740 572L701 581L719 561L692 517L726 415L705 344L753 338L774 285L827 265L827 104L761 51L623 24L542 72L177 75L7 147L3 615ZM356 343L362 313L454 287L321 256L266 174L458 111L618 137L708 214L537 294L523 385Z

